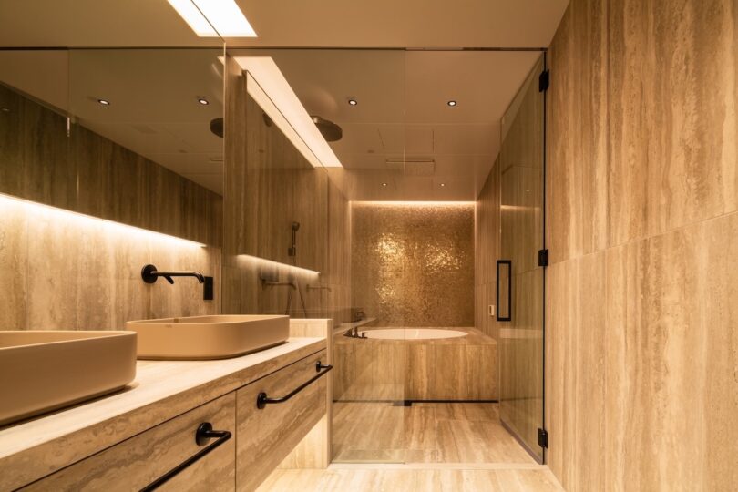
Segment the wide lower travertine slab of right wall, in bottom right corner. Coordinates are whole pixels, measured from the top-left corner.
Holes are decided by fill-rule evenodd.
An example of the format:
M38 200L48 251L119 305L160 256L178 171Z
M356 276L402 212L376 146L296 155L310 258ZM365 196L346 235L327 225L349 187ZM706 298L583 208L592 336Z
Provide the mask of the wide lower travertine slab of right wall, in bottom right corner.
M621 310L608 365L615 483L727 490L736 479L725 416L738 412L736 231L731 214L609 251L610 304Z

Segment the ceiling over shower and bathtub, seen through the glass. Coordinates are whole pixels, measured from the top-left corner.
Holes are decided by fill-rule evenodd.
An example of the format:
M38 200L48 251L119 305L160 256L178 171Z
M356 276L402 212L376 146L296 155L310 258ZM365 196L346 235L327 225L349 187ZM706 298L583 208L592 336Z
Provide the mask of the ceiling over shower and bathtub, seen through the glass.
M539 52L229 50L272 56L311 115L343 128L327 169L349 200L476 200L500 119ZM355 106L348 103L352 98ZM455 100L455 107L447 101Z

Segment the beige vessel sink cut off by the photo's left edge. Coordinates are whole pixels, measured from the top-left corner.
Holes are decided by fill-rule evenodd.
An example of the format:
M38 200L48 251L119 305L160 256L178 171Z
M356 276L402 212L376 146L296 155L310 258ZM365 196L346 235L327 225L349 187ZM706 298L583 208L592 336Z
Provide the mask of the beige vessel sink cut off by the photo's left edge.
M136 377L136 333L0 332L0 425L116 391Z

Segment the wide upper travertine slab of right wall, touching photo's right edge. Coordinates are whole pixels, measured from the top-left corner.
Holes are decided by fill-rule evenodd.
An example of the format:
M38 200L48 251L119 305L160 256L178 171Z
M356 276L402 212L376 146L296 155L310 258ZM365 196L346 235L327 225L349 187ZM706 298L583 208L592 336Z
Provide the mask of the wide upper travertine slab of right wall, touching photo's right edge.
M610 245L738 207L735 12L732 0L610 5Z

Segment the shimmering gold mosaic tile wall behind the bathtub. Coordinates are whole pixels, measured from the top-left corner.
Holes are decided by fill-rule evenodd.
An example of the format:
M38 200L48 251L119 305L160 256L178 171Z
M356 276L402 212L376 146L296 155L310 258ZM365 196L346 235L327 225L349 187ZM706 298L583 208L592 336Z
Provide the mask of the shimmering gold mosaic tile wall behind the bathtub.
M352 304L379 326L474 326L474 205L352 204Z

